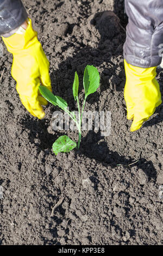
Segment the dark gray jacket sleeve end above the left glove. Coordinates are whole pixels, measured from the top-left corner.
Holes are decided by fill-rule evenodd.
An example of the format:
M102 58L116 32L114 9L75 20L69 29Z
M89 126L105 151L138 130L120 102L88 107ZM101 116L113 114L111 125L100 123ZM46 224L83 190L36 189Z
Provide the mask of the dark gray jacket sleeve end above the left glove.
M27 19L21 0L0 0L0 35L10 33Z

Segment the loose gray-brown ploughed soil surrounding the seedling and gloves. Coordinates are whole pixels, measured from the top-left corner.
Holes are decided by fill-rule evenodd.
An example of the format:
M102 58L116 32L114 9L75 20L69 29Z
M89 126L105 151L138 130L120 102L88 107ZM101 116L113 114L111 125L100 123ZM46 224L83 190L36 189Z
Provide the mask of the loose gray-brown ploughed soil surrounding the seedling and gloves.
M10 75L12 56L3 45L0 244L161 245L163 108L130 132L123 99L124 1L24 2L51 63L54 94L77 110L74 72L82 104L84 68L96 66L101 85L87 97L85 110L110 111L111 130L108 136L83 131L79 150L55 156L55 139L68 135L77 141L78 132L53 130L52 115L60 109L51 104L43 120L24 109ZM162 74L159 70L161 90Z

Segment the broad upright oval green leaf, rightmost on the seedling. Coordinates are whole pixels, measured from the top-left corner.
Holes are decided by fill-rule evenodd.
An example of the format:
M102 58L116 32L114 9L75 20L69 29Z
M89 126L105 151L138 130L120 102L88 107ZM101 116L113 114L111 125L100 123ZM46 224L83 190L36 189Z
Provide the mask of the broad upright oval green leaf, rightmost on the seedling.
M83 86L86 97L89 94L96 92L99 87L99 73L95 66L86 66L84 70Z

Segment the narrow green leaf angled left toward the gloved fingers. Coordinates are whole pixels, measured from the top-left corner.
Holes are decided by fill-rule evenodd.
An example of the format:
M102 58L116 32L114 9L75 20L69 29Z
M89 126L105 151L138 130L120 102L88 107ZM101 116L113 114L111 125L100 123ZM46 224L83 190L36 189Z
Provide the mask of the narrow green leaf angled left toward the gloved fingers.
M59 96L55 96L47 87L39 86L40 93L46 100L51 102L54 106L58 106L61 109L67 108L67 102Z

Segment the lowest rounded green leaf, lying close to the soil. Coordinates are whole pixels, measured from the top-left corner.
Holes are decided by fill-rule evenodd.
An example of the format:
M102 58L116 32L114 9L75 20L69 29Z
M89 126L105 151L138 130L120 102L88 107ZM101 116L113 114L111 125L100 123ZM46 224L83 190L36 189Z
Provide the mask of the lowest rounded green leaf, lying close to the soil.
M60 152L70 152L72 149L77 147L77 143L72 141L68 136L60 136L53 143L53 152L57 155Z

